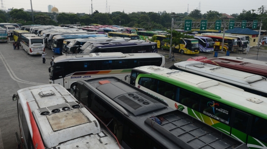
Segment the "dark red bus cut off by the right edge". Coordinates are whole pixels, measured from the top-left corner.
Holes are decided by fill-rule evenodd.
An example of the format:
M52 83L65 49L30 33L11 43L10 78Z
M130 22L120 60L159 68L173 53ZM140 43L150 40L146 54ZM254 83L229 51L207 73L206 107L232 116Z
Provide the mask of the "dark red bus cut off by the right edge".
M220 58L213 58L213 59L190 59L201 61L204 63L214 64L217 66L222 66L234 70L244 71L248 73L257 74L260 76L267 77L267 64L266 61L260 60L250 60L244 59L240 57L220 57Z

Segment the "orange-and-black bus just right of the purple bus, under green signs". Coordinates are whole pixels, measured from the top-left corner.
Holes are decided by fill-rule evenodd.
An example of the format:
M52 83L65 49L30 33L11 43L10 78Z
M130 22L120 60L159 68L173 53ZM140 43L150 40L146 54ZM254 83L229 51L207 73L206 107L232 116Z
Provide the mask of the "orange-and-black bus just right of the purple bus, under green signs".
M229 51L238 50L237 38L224 36L224 43L223 43L223 36L218 36L218 35L196 35L196 36L204 36L204 37L212 38L212 40L215 42L214 43L214 50L215 51L221 51L222 50L222 44L223 44L223 51L225 51L225 50L229 50Z

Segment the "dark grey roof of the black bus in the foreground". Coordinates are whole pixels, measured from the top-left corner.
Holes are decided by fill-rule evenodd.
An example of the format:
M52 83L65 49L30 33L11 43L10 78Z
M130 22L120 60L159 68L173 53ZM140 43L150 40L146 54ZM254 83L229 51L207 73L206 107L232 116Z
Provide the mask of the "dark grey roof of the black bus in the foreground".
M157 144L164 148L200 149L200 147L205 145L207 149L211 149L211 147L208 146L214 143L212 146L215 149L219 149L219 146L220 148L224 146L224 149L227 149L230 146L233 149L247 149L245 144L236 141L226 134L223 137L219 137L220 135L223 135L221 131L200 121L192 120L191 116L188 116L179 110L167 108L165 104L161 103L162 101L158 101L159 99L153 98L153 96L145 91L122 82L118 78L102 77L78 82L82 83L83 86L94 90L94 92L100 96L103 94L104 96L102 96L102 99L100 100L103 100L110 107L115 107L116 111L124 113L124 119L129 121L131 125L133 124L137 127L137 130L140 129L142 133L151 136ZM151 118L155 115L163 118L164 122L158 124L157 122L152 121ZM191 130L202 132L201 141L198 138L198 133L189 133ZM190 139L188 139L189 135ZM211 141L211 135L213 135L212 137L214 139L225 138L220 139L220 141L215 141L214 139L214 141Z

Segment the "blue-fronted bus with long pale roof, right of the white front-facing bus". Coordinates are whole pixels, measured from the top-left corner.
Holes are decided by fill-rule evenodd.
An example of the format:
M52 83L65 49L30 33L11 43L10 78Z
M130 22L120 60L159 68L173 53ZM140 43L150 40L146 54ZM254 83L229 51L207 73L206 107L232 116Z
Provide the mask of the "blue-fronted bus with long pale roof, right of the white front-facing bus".
M64 39L75 39L75 38L88 38L88 37L95 37L95 36L102 36L106 37L107 35L104 34L72 34L72 35L56 35L53 37L51 41L52 50L54 53L62 54L62 45Z

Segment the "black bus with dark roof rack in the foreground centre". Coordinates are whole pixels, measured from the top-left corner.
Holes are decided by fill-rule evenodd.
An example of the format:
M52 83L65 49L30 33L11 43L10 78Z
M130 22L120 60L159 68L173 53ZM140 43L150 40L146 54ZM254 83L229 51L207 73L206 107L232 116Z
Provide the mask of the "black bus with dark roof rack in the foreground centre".
M107 125L124 149L248 149L115 77L78 81L75 98Z

